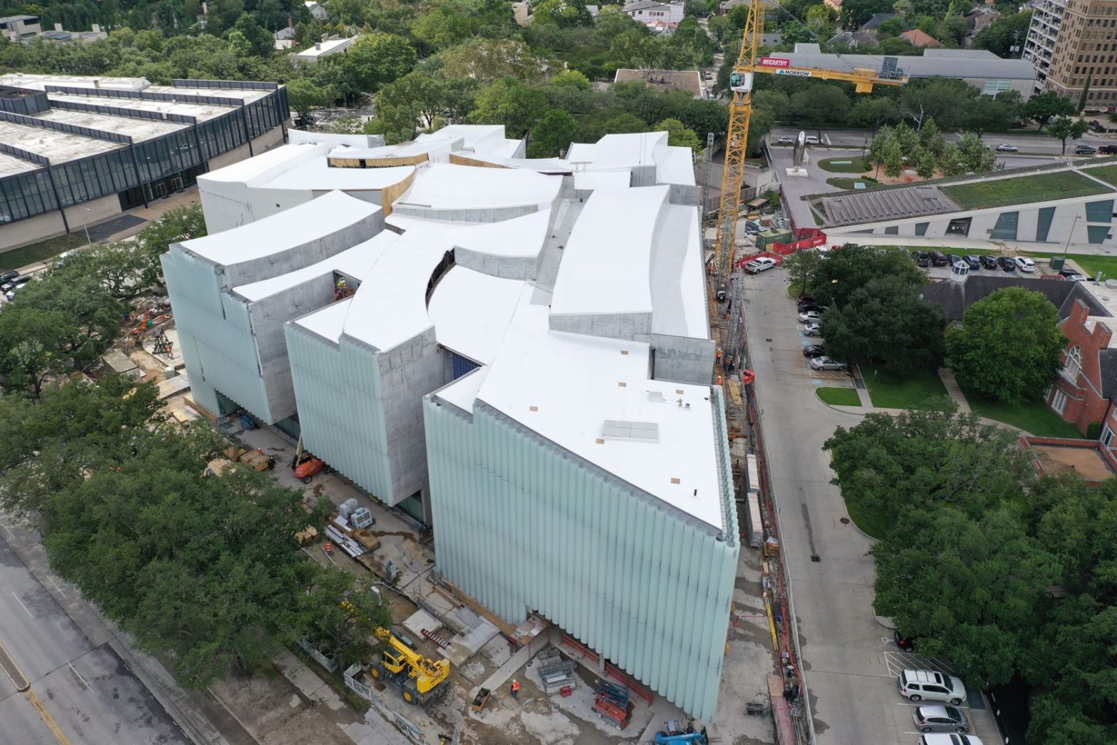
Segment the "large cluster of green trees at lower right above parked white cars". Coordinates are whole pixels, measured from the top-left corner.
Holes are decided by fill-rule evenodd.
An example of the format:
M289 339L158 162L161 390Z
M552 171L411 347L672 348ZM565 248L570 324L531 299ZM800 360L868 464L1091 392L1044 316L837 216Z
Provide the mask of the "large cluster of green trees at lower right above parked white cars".
M1037 478L1015 435L948 402L827 441L881 526L873 605L968 683L1031 687L1028 741L1117 741L1117 480Z

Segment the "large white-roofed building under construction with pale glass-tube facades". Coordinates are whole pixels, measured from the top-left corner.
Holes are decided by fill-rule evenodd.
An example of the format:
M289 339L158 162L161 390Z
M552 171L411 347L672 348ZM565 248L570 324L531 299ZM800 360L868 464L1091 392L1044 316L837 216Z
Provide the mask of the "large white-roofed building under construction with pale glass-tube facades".
M462 592L710 722L739 529L689 150L337 136L201 181L228 227L163 256L195 400L300 437L432 526Z

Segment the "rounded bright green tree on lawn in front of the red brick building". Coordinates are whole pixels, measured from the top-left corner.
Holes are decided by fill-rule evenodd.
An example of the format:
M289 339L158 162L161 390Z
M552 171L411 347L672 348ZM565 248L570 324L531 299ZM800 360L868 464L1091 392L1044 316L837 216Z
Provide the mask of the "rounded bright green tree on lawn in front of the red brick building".
M1062 364L1059 311L1041 292L1004 287L946 332L946 364L963 385L1006 404L1042 397Z

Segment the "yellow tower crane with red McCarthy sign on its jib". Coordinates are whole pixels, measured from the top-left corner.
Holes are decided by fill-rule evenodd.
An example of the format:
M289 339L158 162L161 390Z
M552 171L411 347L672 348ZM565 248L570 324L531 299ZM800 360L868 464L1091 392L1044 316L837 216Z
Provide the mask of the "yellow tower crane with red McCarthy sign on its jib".
M882 77L871 68L853 72L794 67L786 57L761 57L761 38L764 35L764 6L762 0L748 3L748 19L741 41L737 64L729 75L729 130L725 141L725 171L722 176L722 201L717 213L717 243L714 246L717 280L722 287L729 283L733 273L733 254L737 235L737 210L741 187L745 179L748 120L753 114L753 75L793 75L823 81L847 81L857 86L858 93L871 93L873 85L904 85L905 76Z

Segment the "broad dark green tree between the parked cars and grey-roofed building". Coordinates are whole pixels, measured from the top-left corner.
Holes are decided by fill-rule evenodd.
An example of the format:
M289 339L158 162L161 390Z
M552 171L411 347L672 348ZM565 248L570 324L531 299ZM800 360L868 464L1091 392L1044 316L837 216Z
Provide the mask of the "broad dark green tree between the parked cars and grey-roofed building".
M895 377L942 365L944 326L943 311L919 296L918 285L891 276L870 280L822 315L828 353Z

